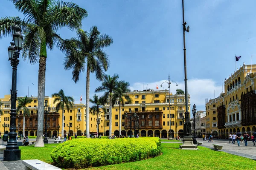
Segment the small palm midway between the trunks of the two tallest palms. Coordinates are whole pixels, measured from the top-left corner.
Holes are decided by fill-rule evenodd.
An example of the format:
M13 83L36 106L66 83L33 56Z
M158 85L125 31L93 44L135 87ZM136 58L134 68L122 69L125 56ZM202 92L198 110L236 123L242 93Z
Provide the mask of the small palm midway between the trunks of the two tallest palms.
M58 102L56 105L56 111L62 110L62 131L61 131L61 137L64 136L64 107L66 106L67 112L69 113L70 108L73 108L73 103L75 100L71 96L65 96L64 91L61 89L58 93L52 94L52 97L54 98L53 104Z

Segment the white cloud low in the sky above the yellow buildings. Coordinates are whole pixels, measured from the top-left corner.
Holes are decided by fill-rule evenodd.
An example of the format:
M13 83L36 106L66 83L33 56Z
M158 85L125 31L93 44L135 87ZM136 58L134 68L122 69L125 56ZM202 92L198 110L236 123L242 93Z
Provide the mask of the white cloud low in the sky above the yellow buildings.
M156 86L158 85L159 90L166 89L168 90L168 83L163 83L163 87L160 87L162 82L165 82L166 80L160 80L157 82L136 82L133 85L131 85L131 91L134 90L143 90L146 89L146 87L150 89L156 89ZM175 94L176 89L182 89L185 90L184 82L177 82L178 86L176 86L176 83L172 83L170 85L170 91ZM215 95L214 95L215 90ZM215 97L218 97L220 93L222 92L221 85L218 86L212 79L189 79L188 80L188 93L190 94L190 104L197 106L197 111L205 111L205 99L211 99Z

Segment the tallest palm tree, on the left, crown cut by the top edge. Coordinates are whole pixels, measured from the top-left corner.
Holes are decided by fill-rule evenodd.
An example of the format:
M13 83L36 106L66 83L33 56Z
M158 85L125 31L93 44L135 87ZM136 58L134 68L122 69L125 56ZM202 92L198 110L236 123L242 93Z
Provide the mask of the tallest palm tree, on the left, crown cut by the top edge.
M23 29L23 59L31 64L39 61L38 71L38 136L35 147L44 147L44 95L47 48L52 50L61 37L58 29L67 26L71 30L81 27L81 20L87 17L87 11L75 3L57 0L11 0L15 8L25 16L0 18L0 38L12 34L11 27Z

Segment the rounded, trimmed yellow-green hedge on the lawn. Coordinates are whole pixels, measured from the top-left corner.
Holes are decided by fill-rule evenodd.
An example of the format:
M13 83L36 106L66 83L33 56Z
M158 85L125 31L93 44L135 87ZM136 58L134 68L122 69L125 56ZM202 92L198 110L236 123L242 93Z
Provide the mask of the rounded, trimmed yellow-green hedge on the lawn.
M138 161L160 155L158 137L120 138L111 140L76 139L59 144L51 157L65 168L96 167Z

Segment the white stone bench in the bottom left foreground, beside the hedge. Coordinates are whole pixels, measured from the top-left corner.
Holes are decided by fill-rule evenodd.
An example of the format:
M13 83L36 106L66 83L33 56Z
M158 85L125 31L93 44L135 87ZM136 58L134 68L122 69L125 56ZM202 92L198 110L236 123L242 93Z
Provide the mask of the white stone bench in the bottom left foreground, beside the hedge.
M47 164L38 159L23 160L22 164L25 165L25 170L61 170L61 168Z

